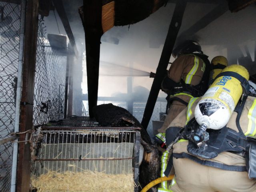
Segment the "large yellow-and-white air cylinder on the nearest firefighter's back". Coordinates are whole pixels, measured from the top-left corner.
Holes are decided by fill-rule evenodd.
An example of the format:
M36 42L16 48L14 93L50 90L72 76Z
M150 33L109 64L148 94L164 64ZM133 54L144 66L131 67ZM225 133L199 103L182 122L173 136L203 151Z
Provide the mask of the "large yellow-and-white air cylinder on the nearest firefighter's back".
M205 124L210 129L220 129L228 123L243 92L241 82L228 74L222 76L224 72L234 72L249 79L246 68L235 64L224 68L214 80L195 108L198 124Z

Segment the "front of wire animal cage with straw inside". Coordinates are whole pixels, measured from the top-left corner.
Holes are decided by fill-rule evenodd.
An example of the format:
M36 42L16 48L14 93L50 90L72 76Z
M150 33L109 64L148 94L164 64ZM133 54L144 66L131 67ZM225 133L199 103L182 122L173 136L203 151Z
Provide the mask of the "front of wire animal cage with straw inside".
M139 150L136 143L140 142L138 131L50 129L37 132L34 138L34 188L43 192L134 191L134 179L138 177L134 172Z

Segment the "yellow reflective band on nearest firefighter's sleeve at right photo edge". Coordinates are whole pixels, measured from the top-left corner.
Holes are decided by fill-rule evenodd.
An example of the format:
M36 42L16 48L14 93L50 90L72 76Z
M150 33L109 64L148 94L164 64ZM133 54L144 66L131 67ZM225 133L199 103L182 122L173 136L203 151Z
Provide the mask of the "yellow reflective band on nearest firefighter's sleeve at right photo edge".
M248 129L245 133L246 136L255 136L256 134L256 99L254 99L254 102L248 112Z

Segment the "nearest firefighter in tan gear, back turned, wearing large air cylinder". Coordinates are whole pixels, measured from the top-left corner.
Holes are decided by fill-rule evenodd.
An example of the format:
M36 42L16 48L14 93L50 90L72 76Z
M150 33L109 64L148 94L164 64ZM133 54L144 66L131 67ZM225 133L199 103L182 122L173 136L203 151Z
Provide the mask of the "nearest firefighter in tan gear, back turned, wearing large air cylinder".
M164 172L168 175L173 164L175 177L170 187L172 192L256 191L256 98L246 96L250 88L249 74L247 72L246 78L241 78L239 73L237 75L234 72L230 74L225 72L218 76L222 80L227 78L223 81L226 83L221 90L231 94L232 98L238 97L238 103L228 118L228 123L216 130L206 129L208 132L207 134L204 132L201 140L198 140L199 137L196 135L200 124L196 119L198 116L195 115L197 113L195 109L201 103L204 109L210 110L210 112L201 110L202 113L207 114L209 122L214 113L214 118L219 115L218 106L215 106L218 102L214 101L210 104L211 101L208 100L207 105L202 104L202 101L207 99L207 93L210 97L209 92L206 92L202 98L192 98L188 107L172 121L166 130L166 144L169 146L168 149L173 146L173 152ZM240 81L241 87L236 86L232 92L226 84L234 78L236 82ZM215 94L214 87L216 92L220 90L216 88L220 81L216 80L217 82L214 81L210 87L212 88L211 96ZM228 90L231 91L228 92ZM239 94L237 90L242 90L242 93ZM230 101L226 100L226 102ZM222 108L219 109L222 110ZM222 122L224 118L221 116L214 123L218 124L218 121Z

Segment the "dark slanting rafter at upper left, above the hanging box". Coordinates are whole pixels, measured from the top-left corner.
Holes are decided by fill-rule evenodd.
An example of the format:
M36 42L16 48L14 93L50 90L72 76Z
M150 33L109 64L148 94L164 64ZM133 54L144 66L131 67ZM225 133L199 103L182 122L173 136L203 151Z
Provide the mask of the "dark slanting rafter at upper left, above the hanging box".
M67 14L65 12L62 0L52 0L52 2L54 3L54 7L56 8L56 10L58 12L58 15L60 16L60 19L62 21L62 24L64 26L66 34L68 36L69 42L72 45L72 50L74 51L74 54L76 56L78 56L78 51L77 51L77 48L76 48L75 38L74 38L73 32L71 30L70 24L68 22L68 17L67 17Z

